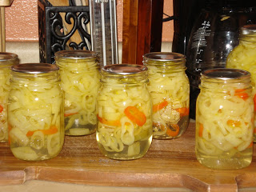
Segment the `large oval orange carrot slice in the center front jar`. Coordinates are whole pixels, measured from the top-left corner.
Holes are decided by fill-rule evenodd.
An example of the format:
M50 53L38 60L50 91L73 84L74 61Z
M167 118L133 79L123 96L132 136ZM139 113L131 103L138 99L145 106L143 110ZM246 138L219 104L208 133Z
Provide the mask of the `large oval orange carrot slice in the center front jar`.
M135 122L138 126L143 126L146 122L146 115L138 110L136 106L127 106L124 110L124 114L126 117L130 119L130 121Z

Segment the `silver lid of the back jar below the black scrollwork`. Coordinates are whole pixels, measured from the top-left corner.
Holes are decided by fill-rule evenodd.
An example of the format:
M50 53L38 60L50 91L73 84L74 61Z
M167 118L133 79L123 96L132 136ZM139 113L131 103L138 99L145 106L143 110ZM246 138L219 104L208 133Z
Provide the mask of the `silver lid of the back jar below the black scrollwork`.
M60 50L56 52L55 58L74 58L74 59L83 59L83 58L96 58L98 54L90 50Z

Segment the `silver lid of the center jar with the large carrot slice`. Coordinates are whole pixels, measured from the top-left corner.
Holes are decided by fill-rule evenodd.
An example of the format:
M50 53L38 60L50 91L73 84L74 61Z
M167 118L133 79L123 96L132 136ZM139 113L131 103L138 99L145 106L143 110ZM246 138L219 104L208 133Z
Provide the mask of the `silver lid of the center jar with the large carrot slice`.
M138 74L147 71L147 67L136 64L112 64L102 67L102 71L110 74Z

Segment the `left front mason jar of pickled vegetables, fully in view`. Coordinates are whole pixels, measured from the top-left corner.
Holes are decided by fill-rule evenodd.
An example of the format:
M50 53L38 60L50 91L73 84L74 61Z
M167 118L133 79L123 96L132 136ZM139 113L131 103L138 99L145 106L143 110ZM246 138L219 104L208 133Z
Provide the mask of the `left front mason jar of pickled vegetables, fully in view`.
M64 107L58 66L26 63L11 67L8 97L10 150L16 158L54 158L64 142Z

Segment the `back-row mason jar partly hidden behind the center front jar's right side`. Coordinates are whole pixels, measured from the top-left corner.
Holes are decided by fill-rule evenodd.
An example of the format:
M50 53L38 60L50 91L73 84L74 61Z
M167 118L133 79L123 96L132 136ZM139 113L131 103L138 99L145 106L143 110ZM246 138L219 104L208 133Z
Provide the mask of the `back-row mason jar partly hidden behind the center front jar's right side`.
M178 53L143 55L149 70L148 89L153 102L153 137L179 138L189 125L190 82L186 58Z

